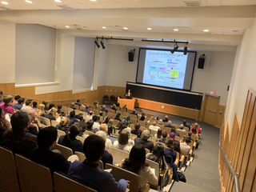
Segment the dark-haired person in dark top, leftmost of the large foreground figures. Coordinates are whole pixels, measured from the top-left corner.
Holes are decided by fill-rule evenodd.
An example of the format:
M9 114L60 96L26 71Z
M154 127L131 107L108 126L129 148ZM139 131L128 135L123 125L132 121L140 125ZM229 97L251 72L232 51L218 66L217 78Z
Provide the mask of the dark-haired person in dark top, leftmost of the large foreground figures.
M10 118L12 128L2 135L1 146L6 146L14 154L28 156L37 148L37 136L27 133L30 126L30 117L26 112L17 111Z

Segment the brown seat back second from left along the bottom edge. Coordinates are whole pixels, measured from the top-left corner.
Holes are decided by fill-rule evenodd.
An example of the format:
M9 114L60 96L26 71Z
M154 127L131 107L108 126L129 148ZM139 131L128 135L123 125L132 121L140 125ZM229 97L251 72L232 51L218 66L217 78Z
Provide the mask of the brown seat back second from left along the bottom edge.
M15 154L15 159L22 191L54 191L50 170L46 166L41 166L19 154Z

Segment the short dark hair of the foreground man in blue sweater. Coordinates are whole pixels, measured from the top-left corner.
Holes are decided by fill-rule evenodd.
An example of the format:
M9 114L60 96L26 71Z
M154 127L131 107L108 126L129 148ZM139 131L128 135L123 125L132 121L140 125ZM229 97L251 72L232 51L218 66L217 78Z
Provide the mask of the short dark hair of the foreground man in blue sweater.
M96 134L90 135L83 143L83 152L86 155L87 162L98 161L104 154L104 150L105 141Z

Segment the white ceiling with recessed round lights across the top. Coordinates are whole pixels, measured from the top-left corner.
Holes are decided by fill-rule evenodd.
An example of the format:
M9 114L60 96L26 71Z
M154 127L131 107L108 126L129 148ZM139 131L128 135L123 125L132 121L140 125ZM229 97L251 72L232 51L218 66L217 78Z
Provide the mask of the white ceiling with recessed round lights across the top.
M177 39L194 45L237 46L256 13L256 0L1 1L9 4L0 3L0 22L40 24L94 38ZM209 32L203 32L206 29Z

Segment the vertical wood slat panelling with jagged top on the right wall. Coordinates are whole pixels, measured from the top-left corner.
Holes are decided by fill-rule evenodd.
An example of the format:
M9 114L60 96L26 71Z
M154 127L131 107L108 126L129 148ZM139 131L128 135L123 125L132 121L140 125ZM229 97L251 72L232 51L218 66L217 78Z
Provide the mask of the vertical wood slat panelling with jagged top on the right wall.
M234 116L232 132L230 123L223 122L220 145L224 150L234 171L238 173L241 191L256 191L256 91L249 89L242 124L238 114ZM226 126L226 127L225 127ZM225 162L222 152L219 152L219 174L222 191L234 191L234 178Z

